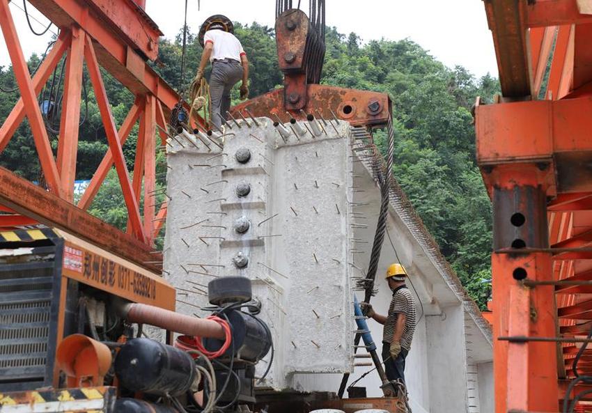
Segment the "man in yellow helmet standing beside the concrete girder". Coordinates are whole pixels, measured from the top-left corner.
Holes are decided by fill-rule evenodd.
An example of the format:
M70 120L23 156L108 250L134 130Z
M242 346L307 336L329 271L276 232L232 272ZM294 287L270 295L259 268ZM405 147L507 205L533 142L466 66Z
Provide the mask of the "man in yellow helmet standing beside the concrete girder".
M415 300L407 289L407 272L403 265L394 263L385 274L393 298L387 315L380 315L370 304L364 303L366 315L384 325L382 334L382 361L389 380L401 380L405 383L405 357L411 350L411 341L415 330Z

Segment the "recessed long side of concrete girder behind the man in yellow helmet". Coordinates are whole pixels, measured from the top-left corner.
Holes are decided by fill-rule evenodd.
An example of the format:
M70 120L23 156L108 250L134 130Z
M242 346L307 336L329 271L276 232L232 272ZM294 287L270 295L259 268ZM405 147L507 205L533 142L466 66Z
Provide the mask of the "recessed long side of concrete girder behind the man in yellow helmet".
M380 209L380 190L373 176L373 162L357 150L366 143L356 141L352 164L352 208L355 232L351 244L354 275L365 274ZM416 300L417 325L407 356L405 378L413 412L493 413L492 345L490 329L439 254L430 234L421 224L396 182L391 185L387 236L384 238L371 303L375 311L387 313L391 291L384 280L387 267L402 263L410 275L407 287ZM363 297L358 293L358 298ZM382 325L368 320L375 343L382 341ZM369 397L382 396L380 380L373 367L356 367L348 386L365 387ZM294 378L300 391L336 391L341 375L299 374ZM347 396L347 393L345 394Z

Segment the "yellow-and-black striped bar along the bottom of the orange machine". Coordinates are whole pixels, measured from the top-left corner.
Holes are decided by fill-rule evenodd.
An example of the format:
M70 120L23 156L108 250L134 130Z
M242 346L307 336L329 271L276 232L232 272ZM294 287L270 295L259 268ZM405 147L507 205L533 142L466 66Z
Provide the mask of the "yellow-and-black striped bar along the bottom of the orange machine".
M0 413L38 411L111 413L115 397L115 387L0 393Z

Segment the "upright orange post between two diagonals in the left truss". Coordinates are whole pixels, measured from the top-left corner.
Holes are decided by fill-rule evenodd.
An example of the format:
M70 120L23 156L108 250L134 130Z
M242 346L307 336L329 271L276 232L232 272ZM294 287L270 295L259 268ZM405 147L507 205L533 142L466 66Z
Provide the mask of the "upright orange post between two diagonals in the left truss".
M70 202L74 200L76 178L82 70L84 68L84 36L84 31L78 27L72 27L72 45L68 50L68 59L65 65L64 98L58 141L58 171L63 196L66 201Z

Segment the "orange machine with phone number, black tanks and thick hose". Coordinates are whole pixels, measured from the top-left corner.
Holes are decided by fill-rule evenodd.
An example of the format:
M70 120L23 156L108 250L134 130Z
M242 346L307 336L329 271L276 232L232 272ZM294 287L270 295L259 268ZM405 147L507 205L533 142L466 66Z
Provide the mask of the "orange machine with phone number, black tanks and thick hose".
M1 236L0 392L13 408L35 401L37 409L75 410L51 410L59 391L33 391L49 387L68 388L78 410L254 405L254 365L272 343L255 315L260 307L249 304L249 280L212 281L217 316L201 320L171 311L169 283L77 237L50 229ZM142 337L148 325L166 329L169 344ZM173 347L171 332L188 335ZM203 393L201 405L194 393Z

